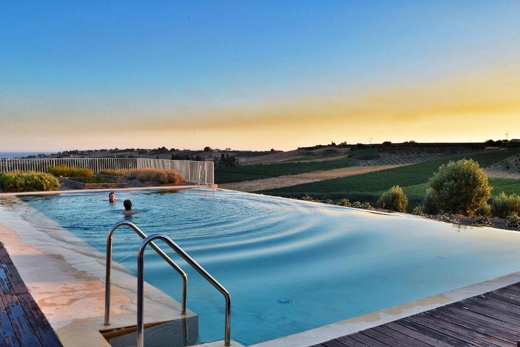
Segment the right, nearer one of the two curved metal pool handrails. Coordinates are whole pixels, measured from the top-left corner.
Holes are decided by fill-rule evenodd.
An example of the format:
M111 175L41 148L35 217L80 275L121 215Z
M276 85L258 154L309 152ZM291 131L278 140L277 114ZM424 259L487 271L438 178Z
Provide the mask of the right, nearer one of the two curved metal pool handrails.
M143 332L145 329L144 323L144 281L145 281L145 249L148 243L153 245L153 240L162 240L166 245L170 246L177 254L181 256L188 264L199 272L213 287L224 295L226 299L226 323L224 330L224 344L231 345L231 297L229 292L224 288L215 278L213 278L205 269L191 258L177 243L171 238L161 235L153 234L142 240L141 246L137 251L137 347L144 347Z

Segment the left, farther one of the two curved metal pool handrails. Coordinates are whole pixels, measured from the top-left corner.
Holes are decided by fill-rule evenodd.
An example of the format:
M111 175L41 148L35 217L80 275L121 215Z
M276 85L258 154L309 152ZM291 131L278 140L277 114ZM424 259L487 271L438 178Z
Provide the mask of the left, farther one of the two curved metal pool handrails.
M120 221L115 223L110 227L110 230L107 234L107 267L106 267L106 276L105 276L105 325L110 325L110 288L111 288L111 273L112 273L112 235L115 232L115 229L120 226L128 226L131 227L134 232L139 235L142 239L146 239L145 233L141 231L132 222ZM181 314L186 314L186 289L188 287L188 276L177 264L170 259L169 256L166 255L159 247L155 246L155 243L151 243L152 248L157 252L166 263L170 264L175 271L179 273L179 275L183 278L183 301L182 301L182 311Z

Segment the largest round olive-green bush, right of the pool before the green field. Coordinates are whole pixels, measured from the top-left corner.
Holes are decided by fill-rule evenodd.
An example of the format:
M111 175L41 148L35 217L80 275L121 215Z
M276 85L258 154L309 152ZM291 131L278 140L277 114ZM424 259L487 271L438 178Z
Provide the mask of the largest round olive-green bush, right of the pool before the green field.
M450 161L428 181L424 204L429 212L473 214L491 196L484 170L471 159Z

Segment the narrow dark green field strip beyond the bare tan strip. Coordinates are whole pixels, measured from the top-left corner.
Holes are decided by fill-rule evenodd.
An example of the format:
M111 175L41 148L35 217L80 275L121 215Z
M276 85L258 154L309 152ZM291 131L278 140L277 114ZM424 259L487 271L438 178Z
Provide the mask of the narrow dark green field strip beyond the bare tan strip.
M215 168L215 183L250 181L251 179L296 175L305 172L346 168L357 164L356 160L322 161L310 163L254 164L241 166L220 166Z

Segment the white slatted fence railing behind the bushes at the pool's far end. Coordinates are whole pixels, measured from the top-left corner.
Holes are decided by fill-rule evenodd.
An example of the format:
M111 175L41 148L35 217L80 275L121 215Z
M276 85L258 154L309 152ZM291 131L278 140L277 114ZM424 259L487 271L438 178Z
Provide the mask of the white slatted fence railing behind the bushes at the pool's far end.
M168 160L146 158L63 158L63 159L0 159L0 172L38 171L47 172L49 166L89 168L100 170L174 169L184 175L187 182L214 183L212 161Z

